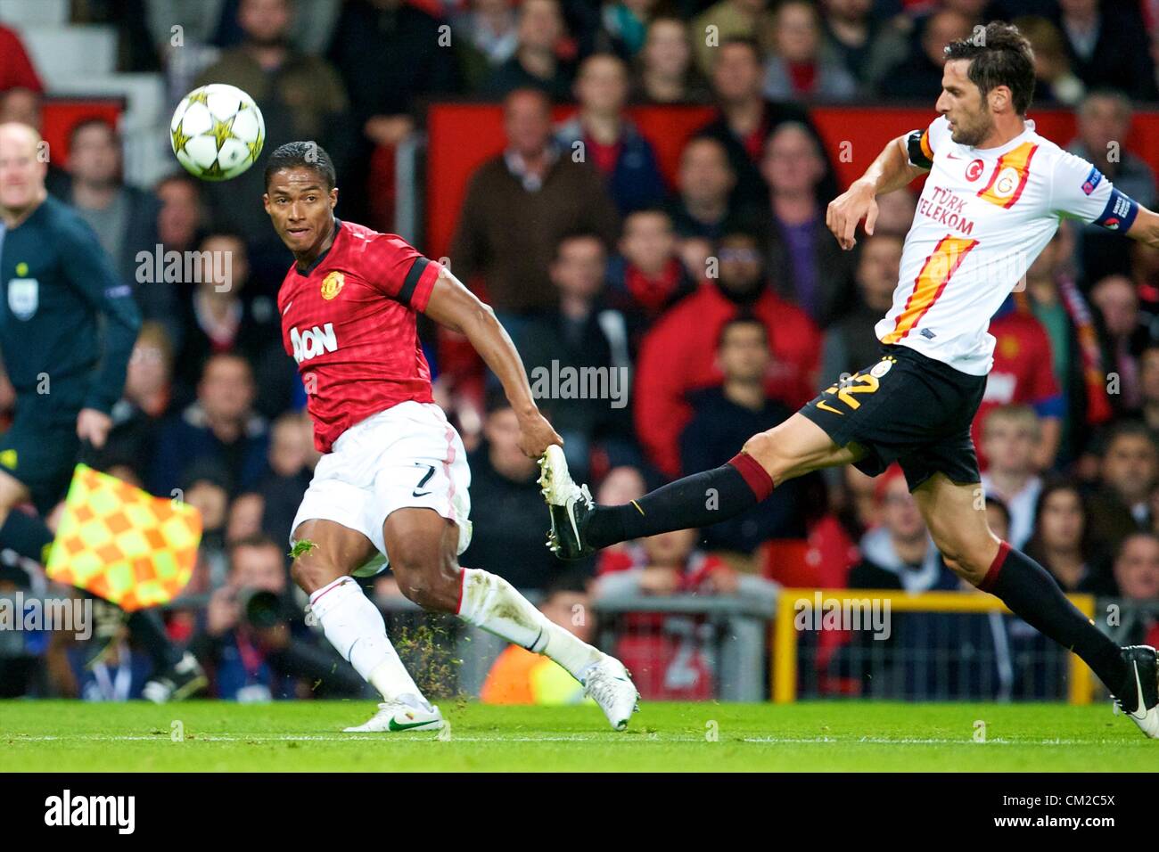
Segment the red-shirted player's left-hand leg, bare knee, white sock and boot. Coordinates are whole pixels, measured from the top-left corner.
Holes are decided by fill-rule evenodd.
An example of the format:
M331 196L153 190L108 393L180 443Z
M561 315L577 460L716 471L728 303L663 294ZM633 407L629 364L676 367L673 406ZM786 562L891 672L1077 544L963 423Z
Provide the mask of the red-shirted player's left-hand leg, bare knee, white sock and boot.
M294 531L299 542L291 570L309 595L307 614L366 683L382 696L378 713L349 733L438 730L443 715L403 667L386 635L382 613L350 576L374 554L360 532L333 520L307 520Z

